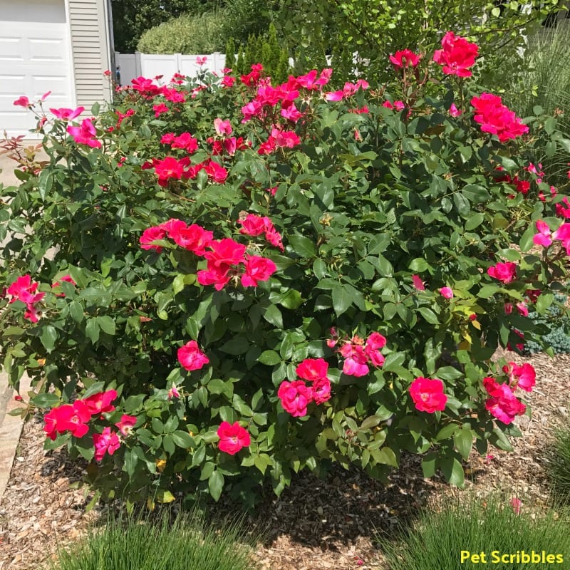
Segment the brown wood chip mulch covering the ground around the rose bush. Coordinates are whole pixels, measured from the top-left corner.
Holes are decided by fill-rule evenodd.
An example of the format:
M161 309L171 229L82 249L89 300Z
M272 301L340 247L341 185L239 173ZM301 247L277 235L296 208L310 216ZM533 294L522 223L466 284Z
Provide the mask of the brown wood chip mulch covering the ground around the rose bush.
M477 494L500 489L506 501L516 496L523 509L540 508L549 502L546 444L570 409L570 355L506 356L537 369L537 386L526 398L532 419L519 418L523 437L514 440L514 452L472 455L467 488ZM41 423L32 420L0 501L0 570L45 565L58 544L77 541L100 517L96 509L84 512L88 499L82 489L70 488L81 479L81 467L61 450L44 452L42 442ZM425 480L417 457L405 457L385 485L358 470L335 469L324 480L300 475L279 499L268 497L246 517L247 527L264 533L254 557L263 570L384 570L375 537L452 492L437 477Z

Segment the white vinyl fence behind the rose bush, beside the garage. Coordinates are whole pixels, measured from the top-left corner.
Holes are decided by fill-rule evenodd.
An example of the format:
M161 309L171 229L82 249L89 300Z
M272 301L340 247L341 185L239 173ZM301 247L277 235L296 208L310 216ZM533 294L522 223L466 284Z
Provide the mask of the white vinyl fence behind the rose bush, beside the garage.
M206 58L205 63L199 66L197 58ZM224 53L206 53L195 56L185 56L182 53L151 55L150 53L118 53L115 51L115 65L120 73L120 84L129 85L137 77L152 79L163 76L162 81L170 81L175 73L183 76L195 77L200 69L214 71L220 76L225 67Z

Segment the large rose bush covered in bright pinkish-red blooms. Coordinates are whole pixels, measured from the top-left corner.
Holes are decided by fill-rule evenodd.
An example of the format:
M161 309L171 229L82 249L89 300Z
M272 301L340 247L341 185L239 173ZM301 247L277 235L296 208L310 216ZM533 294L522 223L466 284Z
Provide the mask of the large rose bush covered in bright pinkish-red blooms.
M403 450L462 484L474 443L509 449L534 377L491 356L566 287L536 149L570 142L464 78L473 46L395 55L385 88L253 66L139 78L93 118L28 102L50 162L3 189L4 368L95 499L251 504Z

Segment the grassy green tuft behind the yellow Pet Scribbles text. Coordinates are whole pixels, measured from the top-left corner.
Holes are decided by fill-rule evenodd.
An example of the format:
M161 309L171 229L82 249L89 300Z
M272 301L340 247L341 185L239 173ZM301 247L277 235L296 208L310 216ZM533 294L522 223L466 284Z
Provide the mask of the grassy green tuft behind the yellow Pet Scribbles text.
M474 497L467 508L457 501L445 504L437 514L425 511L403 538L383 539L381 547L390 570L472 567L477 563L465 558L466 551L483 553L485 559L479 559L479 563L497 570L526 570L546 567L543 551L544 556L559 555L567 561L569 530L569 521L555 519L554 513L532 519L524 504L516 514L508 498ZM549 560L549 564L554 561ZM562 560L557 561L560 564Z

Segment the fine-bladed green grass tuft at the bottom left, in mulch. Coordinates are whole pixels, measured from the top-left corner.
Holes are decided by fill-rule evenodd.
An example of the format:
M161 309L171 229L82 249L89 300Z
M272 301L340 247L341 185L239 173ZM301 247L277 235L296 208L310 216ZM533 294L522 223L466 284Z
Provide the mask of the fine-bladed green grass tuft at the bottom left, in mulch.
M252 570L239 524L214 527L198 514L157 521L111 518L86 540L61 550L52 570Z

